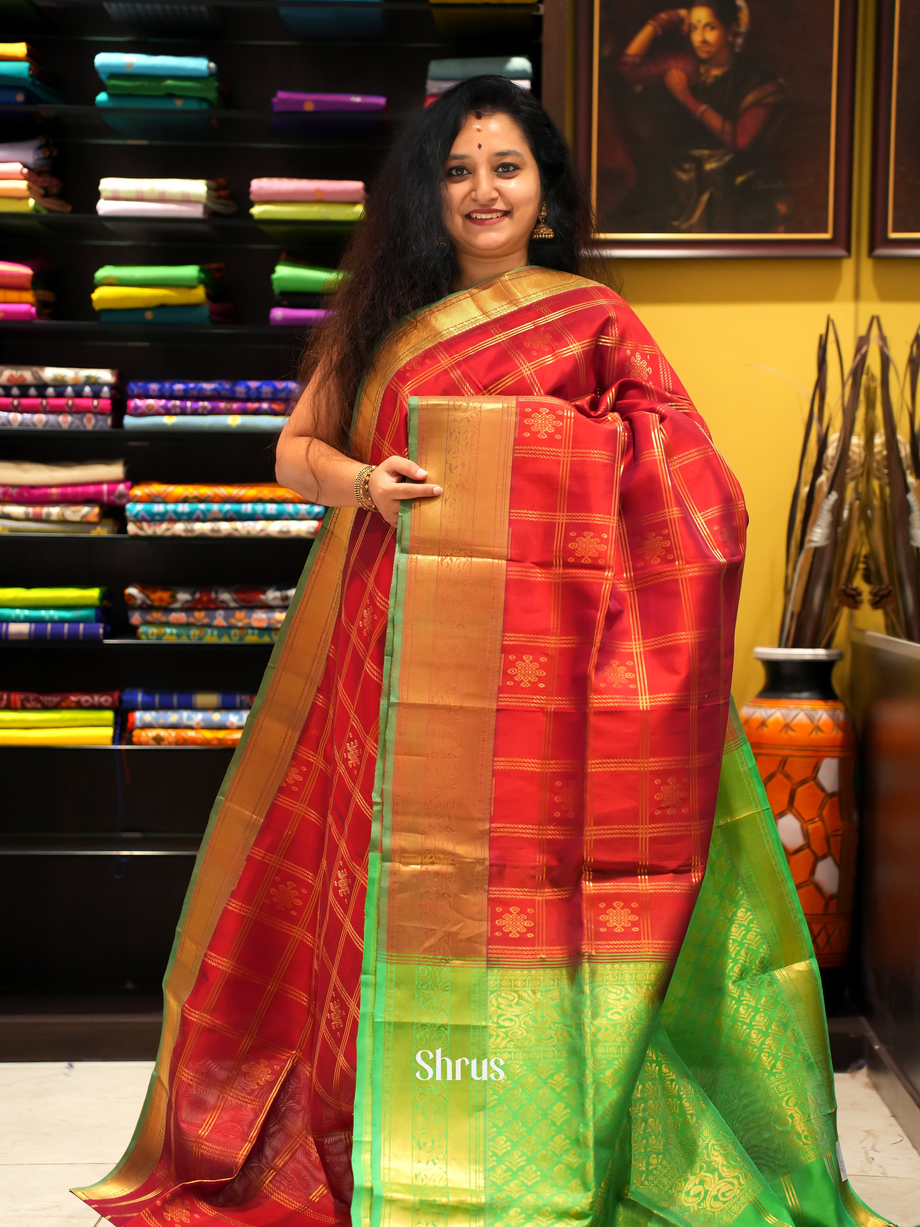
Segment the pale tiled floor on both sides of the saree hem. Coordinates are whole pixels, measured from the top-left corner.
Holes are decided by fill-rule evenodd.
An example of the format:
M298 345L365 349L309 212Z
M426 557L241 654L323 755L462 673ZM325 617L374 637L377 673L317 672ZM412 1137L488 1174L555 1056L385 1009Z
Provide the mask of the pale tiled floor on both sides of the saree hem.
M150 1061L0 1064L0 1223L93 1227L67 1190L98 1180L134 1131ZM840 1144L860 1196L898 1227L920 1223L920 1156L867 1074L838 1074Z

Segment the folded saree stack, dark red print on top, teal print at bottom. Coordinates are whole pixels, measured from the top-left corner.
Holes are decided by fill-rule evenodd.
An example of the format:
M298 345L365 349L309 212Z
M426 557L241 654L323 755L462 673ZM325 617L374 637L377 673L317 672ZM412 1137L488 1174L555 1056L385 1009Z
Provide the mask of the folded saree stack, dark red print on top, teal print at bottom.
M293 588L267 584L131 584L125 588L125 605L139 639L274 643L293 595Z

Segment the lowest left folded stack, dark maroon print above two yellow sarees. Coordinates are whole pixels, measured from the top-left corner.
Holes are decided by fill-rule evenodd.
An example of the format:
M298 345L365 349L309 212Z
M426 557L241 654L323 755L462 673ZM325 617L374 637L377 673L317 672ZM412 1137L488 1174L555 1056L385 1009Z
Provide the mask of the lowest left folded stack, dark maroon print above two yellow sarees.
M118 691L0 691L0 746L110 746Z

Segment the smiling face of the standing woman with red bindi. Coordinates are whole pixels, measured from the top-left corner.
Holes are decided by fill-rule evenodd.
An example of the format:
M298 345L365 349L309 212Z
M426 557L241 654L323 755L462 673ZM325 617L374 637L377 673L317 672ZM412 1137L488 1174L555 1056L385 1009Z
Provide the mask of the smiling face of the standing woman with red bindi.
M444 223L460 255L526 248L542 190L527 137L504 114L472 112L444 162Z

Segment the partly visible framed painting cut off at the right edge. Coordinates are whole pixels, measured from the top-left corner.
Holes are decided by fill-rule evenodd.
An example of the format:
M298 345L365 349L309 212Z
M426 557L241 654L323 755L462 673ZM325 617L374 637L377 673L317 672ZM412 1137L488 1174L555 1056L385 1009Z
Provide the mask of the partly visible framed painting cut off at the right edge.
M920 255L920 0L880 0L872 255Z

